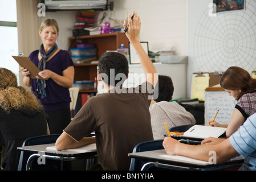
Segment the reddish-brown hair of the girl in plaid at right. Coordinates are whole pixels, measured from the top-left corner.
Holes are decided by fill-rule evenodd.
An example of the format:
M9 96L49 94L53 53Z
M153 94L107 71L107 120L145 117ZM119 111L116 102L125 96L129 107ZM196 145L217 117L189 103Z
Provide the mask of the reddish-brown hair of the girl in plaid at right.
M230 67L221 77L221 87L224 89L235 90L240 89L241 93L237 100L243 94L253 92L256 89L256 79L252 78L250 74L243 68Z

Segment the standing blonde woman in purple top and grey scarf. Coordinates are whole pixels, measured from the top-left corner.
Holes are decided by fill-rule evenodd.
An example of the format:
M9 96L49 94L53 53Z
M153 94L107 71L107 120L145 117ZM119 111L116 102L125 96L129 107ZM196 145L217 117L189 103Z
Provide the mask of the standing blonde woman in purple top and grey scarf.
M30 71L23 68L23 82L31 86L32 92L44 106L49 116L48 125L51 134L60 134L71 121L70 92L74 82L74 64L67 51L59 49L56 39L59 35L58 23L55 19L42 22L39 36L43 44L39 50L30 54L32 62L40 69L39 75L47 80L35 80Z

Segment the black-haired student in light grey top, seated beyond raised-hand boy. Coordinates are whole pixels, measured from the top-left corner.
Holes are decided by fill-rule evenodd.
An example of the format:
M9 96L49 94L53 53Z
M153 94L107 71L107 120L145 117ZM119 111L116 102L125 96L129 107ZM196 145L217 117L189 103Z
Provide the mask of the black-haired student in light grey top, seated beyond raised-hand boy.
M172 78L159 75L159 96L151 101L149 111L151 113L151 125L154 139L164 139L166 125L171 128L180 125L194 125L196 120L193 115L185 110L177 102L170 102L173 95Z

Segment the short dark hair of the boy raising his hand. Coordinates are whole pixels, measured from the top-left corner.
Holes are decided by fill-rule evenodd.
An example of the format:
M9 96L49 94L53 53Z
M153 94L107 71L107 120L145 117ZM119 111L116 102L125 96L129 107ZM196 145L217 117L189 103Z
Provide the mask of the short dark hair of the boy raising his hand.
M115 74L111 74L111 71L114 71ZM127 58L118 52L103 53L99 59L99 73L103 81L108 85L116 86L118 82L120 82L120 85L123 84L129 73ZM119 76L123 77L117 79L116 75L119 73L121 73Z

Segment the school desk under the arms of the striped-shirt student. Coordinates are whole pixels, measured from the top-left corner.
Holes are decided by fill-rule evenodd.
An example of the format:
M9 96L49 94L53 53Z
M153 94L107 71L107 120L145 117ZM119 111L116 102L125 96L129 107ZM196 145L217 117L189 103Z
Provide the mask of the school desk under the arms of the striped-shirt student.
M128 156L130 158L140 159L145 162L144 166L141 168L141 171L147 171L150 167L159 167L179 171L213 171L226 168L238 169L243 164L243 160L231 160L223 164L210 164L209 162L203 162L201 160L195 160L192 158L184 158L182 156L178 156L177 158L168 158L170 155L167 155L165 150L136 152L130 153Z

